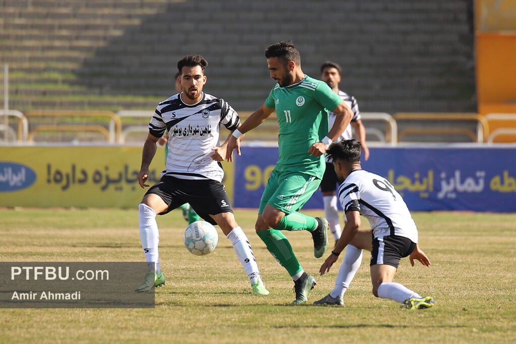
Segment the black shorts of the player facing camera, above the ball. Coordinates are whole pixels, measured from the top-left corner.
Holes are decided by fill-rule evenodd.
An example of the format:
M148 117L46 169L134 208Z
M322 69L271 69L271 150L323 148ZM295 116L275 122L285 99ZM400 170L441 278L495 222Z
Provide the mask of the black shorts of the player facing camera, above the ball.
M190 180L163 176L147 191L146 195L150 193L157 194L168 204L168 209L159 215L165 215L189 203L202 219L215 225L217 223L209 215L233 212L224 185L213 179Z

